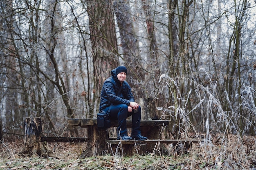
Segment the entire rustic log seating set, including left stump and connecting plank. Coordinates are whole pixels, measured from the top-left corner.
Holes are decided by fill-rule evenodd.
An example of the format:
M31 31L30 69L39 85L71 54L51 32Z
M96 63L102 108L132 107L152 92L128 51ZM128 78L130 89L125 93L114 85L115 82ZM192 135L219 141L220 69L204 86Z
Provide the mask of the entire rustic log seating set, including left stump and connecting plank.
M21 154L34 153L34 151L31 151L31 148L33 147L34 150L40 151L38 152L39 154L41 153L40 148L46 147L45 142L86 142L87 147L81 155L81 158L105 154L109 151L109 146L111 146L111 150L118 150L121 148L122 155L130 156L134 154L134 150L136 150L136 152L139 154L144 154L145 151L150 153L155 152L155 146L159 147L157 150L160 152L160 154L168 154L168 152L165 152L168 149L165 148L164 144L173 144L173 146L183 145L185 148L191 148L193 143L200 142L200 140L197 139L162 139L162 130L169 124L169 121L160 120L161 113L159 113L159 110L157 110L155 107L158 106L157 99L139 99L139 103L141 106L141 135L148 137L149 140L121 141L117 140L116 138L110 138L108 135L108 130L97 127L96 118L67 119L69 126L81 126L82 128L87 128L87 137L45 137L43 130L43 119L30 117L25 119L24 143L27 145L27 147L22 150ZM118 126L117 121L111 121L111 124L111 127ZM127 119L127 128L131 127L132 120ZM131 145L136 147L138 146L141 152L138 152L138 148L132 147ZM47 150L47 153L50 153L50 150ZM49 156L47 153L45 154L46 157Z

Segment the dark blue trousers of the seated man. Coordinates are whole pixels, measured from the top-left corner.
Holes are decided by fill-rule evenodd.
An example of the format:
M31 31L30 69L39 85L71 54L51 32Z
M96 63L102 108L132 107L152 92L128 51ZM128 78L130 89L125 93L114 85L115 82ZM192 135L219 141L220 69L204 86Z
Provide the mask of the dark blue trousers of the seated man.
M108 108L104 109L105 111ZM120 136L127 135L126 118L132 116L132 135L140 134L140 119L141 119L141 108L139 106L138 111L134 113L128 112L128 106L126 104L112 104L110 109L110 119L118 121L117 131L120 132Z

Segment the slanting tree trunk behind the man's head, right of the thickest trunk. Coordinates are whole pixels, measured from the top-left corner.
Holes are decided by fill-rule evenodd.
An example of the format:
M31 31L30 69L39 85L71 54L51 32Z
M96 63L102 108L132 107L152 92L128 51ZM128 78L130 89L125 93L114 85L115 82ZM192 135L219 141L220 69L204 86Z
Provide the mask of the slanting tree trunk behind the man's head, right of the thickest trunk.
M127 66L127 81L133 90L133 95L139 97L145 96L144 86L140 86L145 79L143 70L143 61L139 52L139 41L135 37L133 30L133 21L129 2L126 0L115 0L114 2L117 25L119 27L122 54L124 64Z

